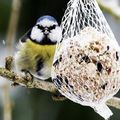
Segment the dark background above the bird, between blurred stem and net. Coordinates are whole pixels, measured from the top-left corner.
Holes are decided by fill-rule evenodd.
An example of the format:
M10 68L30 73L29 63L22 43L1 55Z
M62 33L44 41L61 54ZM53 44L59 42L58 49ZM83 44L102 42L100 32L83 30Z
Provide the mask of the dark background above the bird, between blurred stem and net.
M30 29L42 15L54 16L60 23L68 0L22 0L18 34Z

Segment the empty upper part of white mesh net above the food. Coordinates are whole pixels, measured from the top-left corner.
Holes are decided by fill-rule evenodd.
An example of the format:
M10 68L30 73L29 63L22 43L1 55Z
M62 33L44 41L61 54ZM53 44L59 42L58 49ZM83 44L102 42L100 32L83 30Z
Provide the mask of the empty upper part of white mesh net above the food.
M70 0L61 23L63 39L80 34L88 26L115 39L96 0Z

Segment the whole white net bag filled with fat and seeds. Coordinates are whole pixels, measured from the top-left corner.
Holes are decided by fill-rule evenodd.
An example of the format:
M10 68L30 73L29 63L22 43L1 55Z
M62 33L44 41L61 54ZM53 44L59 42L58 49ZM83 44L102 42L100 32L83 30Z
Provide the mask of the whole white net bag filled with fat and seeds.
M96 0L70 0L61 27L51 73L55 86L108 119L105 102L120 88L120 47Z

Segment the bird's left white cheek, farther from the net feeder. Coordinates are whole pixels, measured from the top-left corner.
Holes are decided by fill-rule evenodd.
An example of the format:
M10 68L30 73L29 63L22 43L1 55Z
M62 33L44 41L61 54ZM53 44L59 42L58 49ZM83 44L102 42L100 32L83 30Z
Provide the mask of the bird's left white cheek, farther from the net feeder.
M32 40L35 40L37 42L40 42L43 39L44 35L41 30L34 27L31 32L31 38Z

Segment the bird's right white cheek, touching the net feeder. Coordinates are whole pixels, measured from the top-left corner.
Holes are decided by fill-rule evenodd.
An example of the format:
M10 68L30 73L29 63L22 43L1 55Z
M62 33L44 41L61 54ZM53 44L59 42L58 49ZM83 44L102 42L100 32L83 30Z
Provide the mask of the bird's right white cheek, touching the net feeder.
M59 42L62 39L62 30L61 28L56 28L55 30L52 30L49 34L49 38L52 42Z

